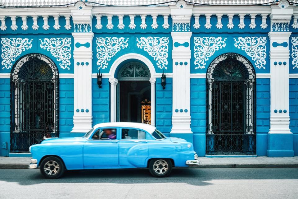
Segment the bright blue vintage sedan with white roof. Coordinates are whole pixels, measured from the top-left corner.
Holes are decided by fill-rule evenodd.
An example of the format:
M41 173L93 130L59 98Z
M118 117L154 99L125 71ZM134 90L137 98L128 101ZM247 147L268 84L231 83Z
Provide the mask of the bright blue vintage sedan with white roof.
M52 179L65 169L148 168L153 176L166 177L174 166L199 164L192 143L142 123L101 123L84 137L48 138L29 150L29 169L39 166Z

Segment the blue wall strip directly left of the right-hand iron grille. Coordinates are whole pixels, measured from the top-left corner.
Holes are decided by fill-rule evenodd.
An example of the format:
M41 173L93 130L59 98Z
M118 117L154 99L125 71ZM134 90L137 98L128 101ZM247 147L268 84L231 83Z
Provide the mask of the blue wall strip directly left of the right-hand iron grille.
M194 150L198 156L206 151L206 79L190 79L190 116Z

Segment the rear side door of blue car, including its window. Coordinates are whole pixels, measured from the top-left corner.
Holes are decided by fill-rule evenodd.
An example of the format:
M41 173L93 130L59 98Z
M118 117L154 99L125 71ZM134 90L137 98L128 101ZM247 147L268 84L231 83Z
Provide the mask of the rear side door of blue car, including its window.
M121 166L146 165L148 132L136 128L121 128L120 131L119 164Z

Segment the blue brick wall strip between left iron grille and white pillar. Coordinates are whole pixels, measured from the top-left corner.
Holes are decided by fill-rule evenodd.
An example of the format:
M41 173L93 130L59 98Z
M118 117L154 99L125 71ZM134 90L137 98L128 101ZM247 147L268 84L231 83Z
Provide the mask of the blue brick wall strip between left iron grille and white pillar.
M74 79L59 79L59 137L69 137L74 116Z

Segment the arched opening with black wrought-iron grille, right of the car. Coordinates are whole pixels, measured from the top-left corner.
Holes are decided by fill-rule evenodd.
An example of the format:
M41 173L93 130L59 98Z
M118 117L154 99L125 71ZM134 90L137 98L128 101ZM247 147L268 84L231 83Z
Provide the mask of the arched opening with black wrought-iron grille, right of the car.
M220 55L206 75L207 155L256 154L256 77L236 53Z

